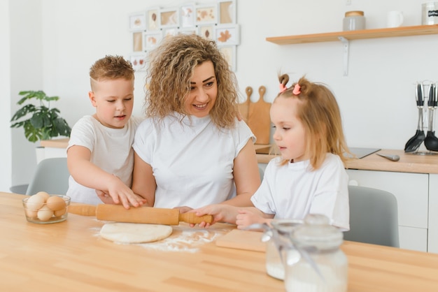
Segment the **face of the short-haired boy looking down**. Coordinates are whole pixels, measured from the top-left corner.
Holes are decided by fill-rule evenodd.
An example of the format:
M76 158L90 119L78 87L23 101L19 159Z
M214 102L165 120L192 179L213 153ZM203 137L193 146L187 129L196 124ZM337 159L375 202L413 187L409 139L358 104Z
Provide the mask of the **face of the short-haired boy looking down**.
M99 80L93 87L94 91L88 93L96 108L93 116L108 128L122 129L134 107L134 80Z

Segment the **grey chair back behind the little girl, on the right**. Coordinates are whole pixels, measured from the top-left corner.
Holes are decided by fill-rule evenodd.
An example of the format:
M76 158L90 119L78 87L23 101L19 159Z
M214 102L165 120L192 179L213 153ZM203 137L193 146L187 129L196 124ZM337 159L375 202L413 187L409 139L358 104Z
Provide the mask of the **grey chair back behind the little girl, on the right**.
M400 247L397 198L388 191L348 186L350 231L344 240Z

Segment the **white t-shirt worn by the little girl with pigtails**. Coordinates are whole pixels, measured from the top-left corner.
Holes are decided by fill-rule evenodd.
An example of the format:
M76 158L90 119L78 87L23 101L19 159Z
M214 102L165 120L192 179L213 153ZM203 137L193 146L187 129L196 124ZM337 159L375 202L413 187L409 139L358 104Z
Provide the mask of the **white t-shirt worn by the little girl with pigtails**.
M328 153L318 170L310 161L279 166L280 157L269 161L260 188L251 201L276 219L304 219L306 214L325 214L330 224L350 229L348 175L339 156Z

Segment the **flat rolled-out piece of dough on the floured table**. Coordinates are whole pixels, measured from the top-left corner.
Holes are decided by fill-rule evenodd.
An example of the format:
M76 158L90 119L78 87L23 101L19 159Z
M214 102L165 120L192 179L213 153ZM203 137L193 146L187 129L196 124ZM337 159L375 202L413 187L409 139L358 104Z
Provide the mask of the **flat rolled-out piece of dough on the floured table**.
M162 240L172 231L172 227L167 225L113 222L102 226L100 235L113 242L142 243Z

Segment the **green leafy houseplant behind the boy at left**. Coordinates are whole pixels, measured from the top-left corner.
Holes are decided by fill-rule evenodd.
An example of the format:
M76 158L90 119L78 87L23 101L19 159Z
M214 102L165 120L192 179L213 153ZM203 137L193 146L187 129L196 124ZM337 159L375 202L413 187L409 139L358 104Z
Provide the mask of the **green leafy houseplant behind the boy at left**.
M70 136L71 128L65 119L59 117L57 108L50 108L50 101L57 101L59 96L47 96L43 91L20 92L23 96L18 105L26 103L17 110L10 122L11 128L24 128L24 136L35 143L38 140L49 140L57 136ZM31 103L38 101L39 106Z

